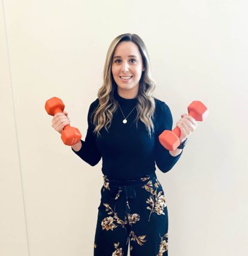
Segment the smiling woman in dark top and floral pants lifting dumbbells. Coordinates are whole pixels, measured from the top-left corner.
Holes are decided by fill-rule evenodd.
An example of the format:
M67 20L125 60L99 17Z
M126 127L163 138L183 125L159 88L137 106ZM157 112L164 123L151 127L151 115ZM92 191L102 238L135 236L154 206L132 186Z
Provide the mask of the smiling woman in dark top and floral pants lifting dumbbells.
M182 149L168 151L159 143L173 119L167 104L153 97L155 87L143 40L136 34L116 37L107 52L104 83L89 107L85 141L72 146L92 166L102 158L94 255L127 255L129 241L131 256L168 255L167 202L155 163L166 173ZM53 117L60 133L69 124L67 115ZM189 115L181 117L176 125L183 143L197 124Z

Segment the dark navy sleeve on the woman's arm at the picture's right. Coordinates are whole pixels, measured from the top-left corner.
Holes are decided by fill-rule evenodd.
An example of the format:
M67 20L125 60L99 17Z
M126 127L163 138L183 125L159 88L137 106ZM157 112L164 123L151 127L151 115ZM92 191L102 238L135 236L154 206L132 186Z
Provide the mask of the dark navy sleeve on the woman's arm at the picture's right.
M159 170L163 173L170 171L171 168L179 160L182 152L177 156L172 156L169 150L165 149L162 144L159 142L159 135L165 130L172 129L173 126L173 117L171 115L170 108L162 102L160 106L160 112L158 116L158 128L156 129L156 138L155 138L155 162Z

